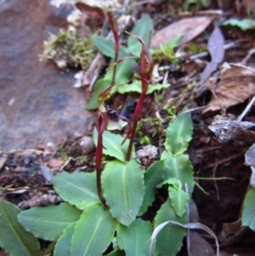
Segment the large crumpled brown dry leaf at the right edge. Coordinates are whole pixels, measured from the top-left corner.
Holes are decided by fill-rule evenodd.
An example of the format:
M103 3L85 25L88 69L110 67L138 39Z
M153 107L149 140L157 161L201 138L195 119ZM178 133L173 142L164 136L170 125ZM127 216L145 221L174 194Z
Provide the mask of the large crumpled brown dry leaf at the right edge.
M220 81L210 77L206 87L212 92L212 100L203 111L223 112L255 94L255 71L245 65L225 64Z

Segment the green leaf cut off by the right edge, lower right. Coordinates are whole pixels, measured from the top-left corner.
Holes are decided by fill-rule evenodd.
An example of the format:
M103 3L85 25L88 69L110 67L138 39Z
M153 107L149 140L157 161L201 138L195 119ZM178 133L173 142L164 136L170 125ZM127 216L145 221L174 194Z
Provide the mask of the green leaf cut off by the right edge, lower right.
M241 213L241 224L255 231L255 188L246 193L246 198Z

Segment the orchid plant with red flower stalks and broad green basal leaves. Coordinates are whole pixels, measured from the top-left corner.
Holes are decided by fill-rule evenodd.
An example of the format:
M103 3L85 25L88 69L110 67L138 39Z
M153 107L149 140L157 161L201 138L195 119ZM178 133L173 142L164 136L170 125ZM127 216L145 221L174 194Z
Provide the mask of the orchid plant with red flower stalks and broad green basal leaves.
M115 35L116 61L112 66L116 69L116 65L127 58L117 60L117 30L111 13L108 15ZM98 97L98 122L94 136L97 144L96 172L55 175L51 183L64 201L59 205L20 212L10 203L0 201L0 214L3 216L0 225L5 226L5 230L1 229L4 236L0 237L0 246L10 256L18 255L20 251L17 253L9 241L19 244L23 256L39 255L36 237L55 242L54 256L174 256L182 247L186 235L184 228L189 222L186 211L195 184L193 168L188 155L184 154L192 135L190 114L185 112L169 123L165 151L160 161L143 170L140 162L133 159L133 139L153 63L144 41L136 35L127 34L142 45L139 58L142 90L134 111L133 125L107 105L115 85L113 71L110 86ZM124 139L119 134L106 131L121 130L126 125L128 130ZM104 168L103 155L115 158ZM184 191L184 185L188 185L188 192ZM144 213L156 200L158 188L165 189L168 196L156 216L144 220ZM168 225L169 221L181 225Z

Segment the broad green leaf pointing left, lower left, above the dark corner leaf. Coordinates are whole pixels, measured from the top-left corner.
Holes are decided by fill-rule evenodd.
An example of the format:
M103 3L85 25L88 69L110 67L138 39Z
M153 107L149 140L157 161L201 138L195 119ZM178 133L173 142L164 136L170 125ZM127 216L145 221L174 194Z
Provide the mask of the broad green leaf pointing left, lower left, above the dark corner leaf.
M81 211L63 202L48 207L35 207L18 215L20 224L34 236L48 241L56 240L65 228L76 222Z

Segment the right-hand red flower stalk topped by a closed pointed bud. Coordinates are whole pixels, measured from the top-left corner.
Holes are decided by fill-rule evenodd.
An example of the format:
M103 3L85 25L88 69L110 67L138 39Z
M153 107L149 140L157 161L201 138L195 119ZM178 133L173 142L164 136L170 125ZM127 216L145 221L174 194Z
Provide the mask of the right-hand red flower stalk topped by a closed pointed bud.
M131 157L131 152L132 152L132 146L133 146L133 140L136 134L136 128L137 128L137 124L139 122L139 118L141 116L142 110L143 110L143 106L144 106L144 99L145 99L145 95L148 89L148 76L150 75L150 72L152 71L153 68L153 61L152 58L150 56L150 51L149 49L146 47L144 41L136 36L133 35L129 32L126 31L126 33L134 38L136 38L139 43L142 44L142 50L140 53L140 63L139 63L139 70L140 70L140 74L141 74L141 82L142 82L142 92L140 94L139 97L139 102L136 105L135 111L134 111L134 117L133 117L133 129L131 132L131 137L129 140L129 145L128 145L128 149L127 149L127 156L126 156L126 160L129 161L130 157Z

